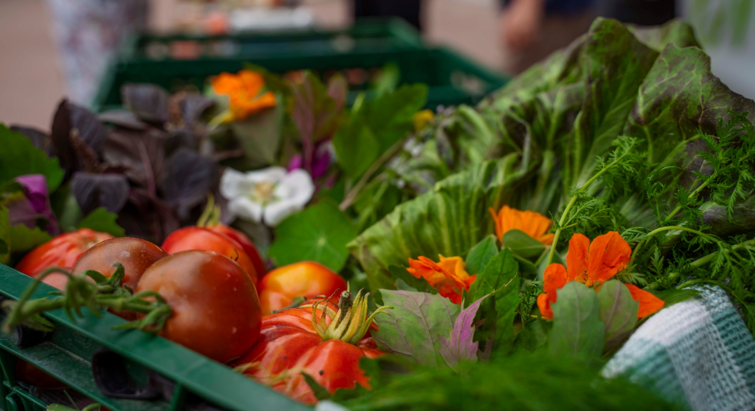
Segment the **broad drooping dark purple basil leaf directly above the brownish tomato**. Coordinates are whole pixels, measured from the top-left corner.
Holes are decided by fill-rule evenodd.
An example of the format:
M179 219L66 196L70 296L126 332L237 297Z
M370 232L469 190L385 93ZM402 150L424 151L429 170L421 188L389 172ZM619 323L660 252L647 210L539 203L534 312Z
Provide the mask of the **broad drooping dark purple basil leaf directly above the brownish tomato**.
M88 214L97 207L118 213L128 200L128 179L123 174L75 173L71 183L73 195L82 213Z

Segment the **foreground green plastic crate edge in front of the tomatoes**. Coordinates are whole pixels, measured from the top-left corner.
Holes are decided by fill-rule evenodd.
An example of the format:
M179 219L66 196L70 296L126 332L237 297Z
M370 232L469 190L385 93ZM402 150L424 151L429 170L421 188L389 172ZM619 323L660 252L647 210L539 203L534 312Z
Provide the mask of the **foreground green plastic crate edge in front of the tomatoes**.
M0 264L0 296L18 299L33 281L33 278ZM41 284L34 298L48 296L53 290ZM216 407L214 409L234 411L311 409L160 336L139 330L112 330L112 326L124 322L120 317L108 312L97 317L86 308L83 311L85 317L76 321L67 317L63 310L46 314L56 324L55 330L42 342L26 348L17 346L15 333L0 333L0 409L40 411L47 406L28 387L17 382L15 366L19 358L112 411L172 411L186 409L186 401L196 403L198 399L212 404ZM0 321L4 318L5 313L0 313ZM147 370L174 382L171 397L156 400L106 397L97 388L91 370L91 358L102 348L109 348L124 358L128 373L136 382L146 376Z

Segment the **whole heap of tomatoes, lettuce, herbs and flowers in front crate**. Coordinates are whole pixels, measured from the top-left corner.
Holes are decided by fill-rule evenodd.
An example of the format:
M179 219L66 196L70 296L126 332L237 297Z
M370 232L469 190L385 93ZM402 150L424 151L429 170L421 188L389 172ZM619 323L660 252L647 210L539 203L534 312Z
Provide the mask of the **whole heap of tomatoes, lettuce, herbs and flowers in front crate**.
M603 367L711 290L755 350L755 102L686 23L598 19L474 107L396 81L249 66L0 124L0 262L39 279L3 329L106 309L355 410L701 409Z

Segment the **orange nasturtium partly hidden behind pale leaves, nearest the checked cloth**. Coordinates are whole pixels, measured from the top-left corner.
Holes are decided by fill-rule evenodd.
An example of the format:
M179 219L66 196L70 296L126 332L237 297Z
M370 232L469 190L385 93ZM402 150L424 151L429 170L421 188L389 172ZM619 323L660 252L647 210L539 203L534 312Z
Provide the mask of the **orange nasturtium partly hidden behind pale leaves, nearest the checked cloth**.
M600 285L609 281L629 262L632 249L618 232L608 232L597 236L592 244L590 239L575 234L569 241L569 253L566 254L566 267L553 263L543 273L543 293L538 296L538 308L543 317L553 318L550 305L556 302L556 290L569 281L579 281L585 286ZM639 302L637 317L642 318L663 308L662 299L632 284L624 284L632 294L632 299Z

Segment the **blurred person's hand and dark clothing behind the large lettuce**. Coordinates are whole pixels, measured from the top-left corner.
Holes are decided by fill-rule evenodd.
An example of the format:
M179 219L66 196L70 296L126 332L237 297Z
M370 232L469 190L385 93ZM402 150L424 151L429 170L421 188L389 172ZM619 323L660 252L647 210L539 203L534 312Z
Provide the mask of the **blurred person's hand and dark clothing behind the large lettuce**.
M504 71L519 74L569 45L597 15L596 0L504 0L498 20Z

